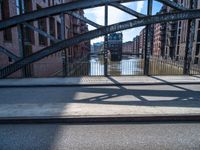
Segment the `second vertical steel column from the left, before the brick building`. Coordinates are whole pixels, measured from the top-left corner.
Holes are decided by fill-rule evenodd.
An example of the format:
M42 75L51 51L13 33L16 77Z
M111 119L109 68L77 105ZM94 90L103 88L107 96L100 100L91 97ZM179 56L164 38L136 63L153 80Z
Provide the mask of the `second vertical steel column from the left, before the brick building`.
M60 15L61 18L61 40L65 39L65 14ZM63 76L67 76L67 50L62 50L62 62L63 62Z

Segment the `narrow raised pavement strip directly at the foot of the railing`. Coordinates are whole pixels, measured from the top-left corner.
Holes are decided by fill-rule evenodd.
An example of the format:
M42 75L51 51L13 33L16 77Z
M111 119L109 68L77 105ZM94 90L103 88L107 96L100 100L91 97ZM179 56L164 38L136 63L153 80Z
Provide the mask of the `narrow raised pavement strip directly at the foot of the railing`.
M137 85L137 84L180 84L200 83L196 76L119 76L119 77L70 77L70 78L30 78L3 79L0 87L9 86L79 86L79 85Z

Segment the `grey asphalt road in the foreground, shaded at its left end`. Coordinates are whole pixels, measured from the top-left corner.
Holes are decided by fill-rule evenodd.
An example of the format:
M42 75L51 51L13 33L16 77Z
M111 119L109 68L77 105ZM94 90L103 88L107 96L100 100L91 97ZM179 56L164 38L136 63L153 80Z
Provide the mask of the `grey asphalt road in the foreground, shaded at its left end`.
M199 150L200 123L0 125L0 150Z

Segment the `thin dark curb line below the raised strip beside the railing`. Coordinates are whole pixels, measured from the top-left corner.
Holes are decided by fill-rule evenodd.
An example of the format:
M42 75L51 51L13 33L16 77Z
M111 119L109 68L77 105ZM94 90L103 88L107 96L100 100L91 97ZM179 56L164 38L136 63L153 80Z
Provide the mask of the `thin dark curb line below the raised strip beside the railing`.
M34 84L34 85L0 85L0 88L34 88L34 87L84 87L84 86L144 86L144 85L191 85L200 84L200 82L165 82L165 83L98 83L98 84Z

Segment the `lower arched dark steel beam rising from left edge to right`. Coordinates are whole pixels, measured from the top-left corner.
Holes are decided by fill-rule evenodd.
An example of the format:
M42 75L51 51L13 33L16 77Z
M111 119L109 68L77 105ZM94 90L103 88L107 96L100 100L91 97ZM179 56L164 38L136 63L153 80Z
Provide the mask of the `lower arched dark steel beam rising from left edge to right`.
M49 46L47 48L44 48L31 56L28 56L24 59L21 59L14 64L11 64L3 69L0 70L0 78L4 78L17 70L21 69L27 64L31 64L33 62L36 62L44 57L47 57L51 54L54 54L64 48L68 48L70 46L76 45L80 42L87 41L96 37L100 37L106 34L110 34L113 32L126 30L130 28L136 28L144 25L149 24L155 24L160 22L169 22L169 21L177 21L177 20L187 20L187 19L195 19L200 17L200 9L197 10L185 10L182 12L175 12L175 13L169 13L169 14L159 14L155 16L147 16L144 18L139 19L133 19L117 24L113 24L107 27L102 27L100 29L96 29L93 31L89 31L87 33L78 35L76 37L73 37L71 39L67 39L61 42L58 42L57 44L53 46Z

